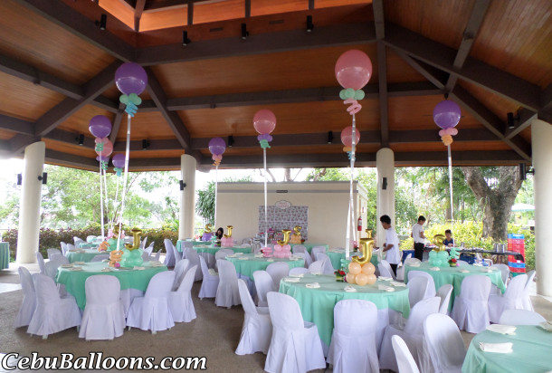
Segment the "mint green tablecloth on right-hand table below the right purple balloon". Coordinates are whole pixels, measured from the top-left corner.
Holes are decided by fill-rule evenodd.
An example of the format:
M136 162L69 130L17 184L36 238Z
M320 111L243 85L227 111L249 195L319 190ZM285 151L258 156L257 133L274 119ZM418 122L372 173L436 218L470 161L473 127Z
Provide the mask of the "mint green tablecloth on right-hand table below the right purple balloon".
M451 294L451 302L449 303L449 310L452 310L454 298L460 295L463 279L473 274L482 274L484 276L488 276L490 277L490 282L495 284L502 292L506 290L504 282L502 282L502 275L499 270L495 270L492 273L486 273L482 271L483 269L488 269L489 267L465 265L462 267L440 267L439 271L432 271L430 270L430 268L433 268L433 265L431 265L430 263L420 263L419 267L413 267L410 264L405 265L404 282L408 282L408 272L422 271L432 275L433 282L435 282L435 291L439 290L439 288L445 283L450 283L453 286L453 291ZM461 270L467 270L469 271L469 273L462 273L460 272Z

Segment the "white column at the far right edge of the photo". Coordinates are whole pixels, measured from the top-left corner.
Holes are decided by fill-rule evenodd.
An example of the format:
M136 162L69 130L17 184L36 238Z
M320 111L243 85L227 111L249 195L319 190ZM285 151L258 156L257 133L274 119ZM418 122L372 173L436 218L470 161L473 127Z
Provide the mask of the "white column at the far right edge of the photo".
M531 123L533 148L533 180L535 195L535 266L538 294L552 297L552 125L542 120Z

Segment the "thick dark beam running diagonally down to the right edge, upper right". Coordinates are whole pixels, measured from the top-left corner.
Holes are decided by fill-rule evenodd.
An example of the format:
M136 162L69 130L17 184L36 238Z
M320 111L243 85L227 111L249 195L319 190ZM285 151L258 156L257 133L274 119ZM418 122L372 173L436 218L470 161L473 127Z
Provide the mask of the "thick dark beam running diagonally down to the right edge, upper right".
M444 72L492 91L500 97L515 101L528 110L538 111L540 109L538 85L471 57L467 57L462 68L458 69L452 64L457 51L441 43L433 42L419 33L414 33L395 24L386 24L385 43Z

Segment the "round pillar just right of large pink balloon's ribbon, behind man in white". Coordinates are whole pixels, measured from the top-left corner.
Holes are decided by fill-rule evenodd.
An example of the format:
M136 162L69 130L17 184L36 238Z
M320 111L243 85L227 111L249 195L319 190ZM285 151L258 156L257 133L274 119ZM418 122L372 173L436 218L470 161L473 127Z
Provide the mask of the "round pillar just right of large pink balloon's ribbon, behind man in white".
M377 168L377 200L376 244L381 246L385 242L385 229L379 222L381 215L391 217L391 225L395 228L395 154L390 148L381 148L376 153ZM384 183L385 177L385 183ZM385 189L384 189L385 187Z

